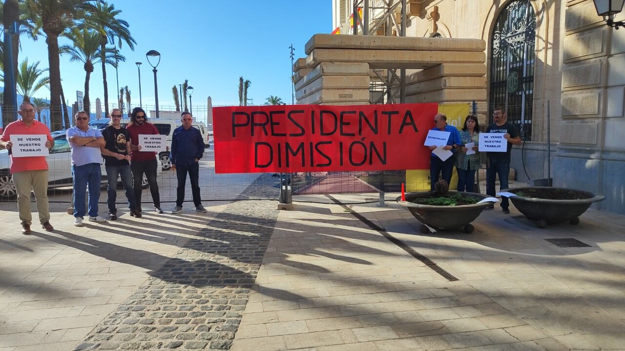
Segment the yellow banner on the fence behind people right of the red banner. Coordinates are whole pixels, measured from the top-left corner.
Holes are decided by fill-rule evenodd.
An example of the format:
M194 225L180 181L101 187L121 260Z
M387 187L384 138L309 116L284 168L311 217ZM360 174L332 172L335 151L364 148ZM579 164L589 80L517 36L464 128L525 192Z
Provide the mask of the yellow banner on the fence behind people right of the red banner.
M462 129L464 119L471 111L469 104L439 104L438 112L447 116L447 124L456 127L458 130ZM454 167L454 172L451 174L451 184L449 184L449 190L456 190L458 184L458 174ZM430 179L429 169L408 169L406 170L406 192L415 191L429 191Z

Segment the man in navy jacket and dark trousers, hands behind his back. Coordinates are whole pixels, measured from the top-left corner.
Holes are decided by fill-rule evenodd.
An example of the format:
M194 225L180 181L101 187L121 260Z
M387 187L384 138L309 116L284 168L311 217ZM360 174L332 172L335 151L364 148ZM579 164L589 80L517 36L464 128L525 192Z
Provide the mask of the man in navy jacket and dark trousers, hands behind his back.
M172 213L176 214L183 210L184 185L187 182L187 172L191 179L193 204L198 212L206 212L202 206L199 195L199 160L204 154L204 141L202 134L191 126L193 116L189 112L183 112L181 117L182 127L174 129L171 137L171 169L178 174L178 189L176 193L176 207Z

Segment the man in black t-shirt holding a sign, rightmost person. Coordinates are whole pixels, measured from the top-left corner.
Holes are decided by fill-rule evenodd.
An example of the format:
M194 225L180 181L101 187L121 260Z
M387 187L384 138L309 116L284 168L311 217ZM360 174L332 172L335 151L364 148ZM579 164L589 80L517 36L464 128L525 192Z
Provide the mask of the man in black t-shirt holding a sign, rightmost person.
M503 107L496 107L492 112L493 124L486 128L487 133L504 133L507 140L506 152L486 152L488 162L486 163L486 194L495 196L495 179L499 175L499 189L507 189L508 174L510 174L510 155L512 144L521 145L521 137L513 124L507 121L506 110ZM501 197L501 209L504 214L509 214L509 203L507 197Z

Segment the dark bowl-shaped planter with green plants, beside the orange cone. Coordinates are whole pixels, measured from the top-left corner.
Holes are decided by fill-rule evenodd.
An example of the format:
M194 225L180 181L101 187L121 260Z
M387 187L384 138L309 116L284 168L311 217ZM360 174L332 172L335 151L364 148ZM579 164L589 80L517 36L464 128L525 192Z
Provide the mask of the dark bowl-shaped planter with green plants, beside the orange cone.
M457 191L450 191L449 195L456 194ZM471 195L478 199L486 199L487 195L476 194L474 192L465 192L462 194ZM429 233L429 228L434 227L442 230L451 230L462 228L464 232L473 232L473 225L470 223L477 218L483 209L492 204L492 202L482 202L481 204L457 205L457 206L437 206L437 205L421 205L413 204L412 199L417 197L427 197L431 192L411 192L406 194L406 201L401 200L401 196L397 197L397 202L406 207L416 219L421 222L421 233Z

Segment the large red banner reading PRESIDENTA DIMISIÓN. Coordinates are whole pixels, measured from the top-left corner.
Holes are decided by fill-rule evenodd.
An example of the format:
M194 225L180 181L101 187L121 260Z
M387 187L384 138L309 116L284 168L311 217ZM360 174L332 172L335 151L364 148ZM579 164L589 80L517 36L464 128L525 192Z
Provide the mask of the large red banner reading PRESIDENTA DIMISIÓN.
M213 108L215 172L428 169L437 104Z

